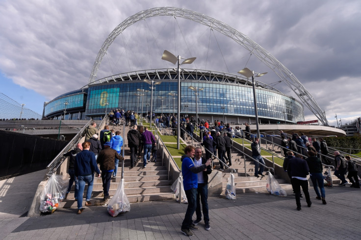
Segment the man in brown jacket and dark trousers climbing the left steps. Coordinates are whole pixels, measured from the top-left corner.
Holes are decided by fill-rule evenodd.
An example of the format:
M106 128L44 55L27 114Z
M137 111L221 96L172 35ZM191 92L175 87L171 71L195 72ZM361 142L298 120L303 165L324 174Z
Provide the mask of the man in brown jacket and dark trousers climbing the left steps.
M109 188L110 188L110 179L115 168L114 159L121 159L122 157L117 153L116 150L110 148L110 142L104 143L104 150L99 153L97 163L100 165L102 171L102 181L103 181L103 192L104 198L109 199Z

